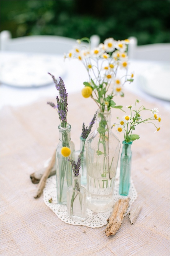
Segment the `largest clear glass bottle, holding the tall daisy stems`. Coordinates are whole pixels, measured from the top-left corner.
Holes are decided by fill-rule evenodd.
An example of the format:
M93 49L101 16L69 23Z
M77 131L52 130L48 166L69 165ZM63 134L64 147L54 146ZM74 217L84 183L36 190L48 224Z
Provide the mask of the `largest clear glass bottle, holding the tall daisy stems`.
M94 212L106 212L114 205L120 141L111 130L110 111L98 110L96 119L96 129L85 141L87 207Z

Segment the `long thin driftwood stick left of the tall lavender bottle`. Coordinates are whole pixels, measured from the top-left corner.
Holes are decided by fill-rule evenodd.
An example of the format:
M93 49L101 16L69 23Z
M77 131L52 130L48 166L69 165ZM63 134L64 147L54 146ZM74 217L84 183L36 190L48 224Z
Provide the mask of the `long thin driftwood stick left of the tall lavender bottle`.
M45 172L43 173L43 176L41 177L40 182L38 183L37 193L36 193L36 195L34 195L34 198L38 198L41 196L41 193L43 192L44 186L46 184L46 180L51 172L51 169L53 168L53 166L55 164L55 160L56 160L56 150L55 150Z

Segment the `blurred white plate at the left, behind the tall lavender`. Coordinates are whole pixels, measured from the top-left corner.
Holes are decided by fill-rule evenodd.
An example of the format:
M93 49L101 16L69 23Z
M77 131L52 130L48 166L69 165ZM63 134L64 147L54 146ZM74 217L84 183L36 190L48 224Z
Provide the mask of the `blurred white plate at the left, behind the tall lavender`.
M38 87L53 83L65 73L63 58L38 54L19 54L0 61L0 82L17 87Z

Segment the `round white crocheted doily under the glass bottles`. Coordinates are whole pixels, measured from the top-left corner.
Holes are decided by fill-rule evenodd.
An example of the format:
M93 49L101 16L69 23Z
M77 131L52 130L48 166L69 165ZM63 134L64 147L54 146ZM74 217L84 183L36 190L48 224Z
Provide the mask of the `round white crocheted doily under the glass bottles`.
M75 221L70 219L67 215L67 206L62 204L57 204L57 196L56 196L56 175L51 176L47 179L46 186L43 190L44 202L45 204L57 215L57 217L65 223L69 223L72 225L79 225L79 226L87 226L87 227L103 227L107 225L107 219L110 218L113 209L107 211L105 213L95 213L90 209L87 209L87 217L83 221ZM119 195L119 179L116 178L115 181L115 188L114 188L114 202L116 202L120 198L126 198L127 196ZM129 213L130 208L133 202L137 198L137 192L134 187L134 184L131 180L130 189L129 189L129 207L125 213ZM52 198L51 203L49 200Z

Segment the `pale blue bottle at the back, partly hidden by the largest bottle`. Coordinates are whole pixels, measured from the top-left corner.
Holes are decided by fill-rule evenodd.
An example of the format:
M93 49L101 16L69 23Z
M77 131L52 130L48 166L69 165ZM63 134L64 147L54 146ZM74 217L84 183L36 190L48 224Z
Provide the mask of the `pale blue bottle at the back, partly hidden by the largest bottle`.
M75 152L75 159L78 160L78 155L82 151L81 156L81 168L79 173L81 174L81 184L86 186L87 185L87 169L86 169L86 148L85 148L85 141L86 139L83 139L80 137L80 150L77 150Z

